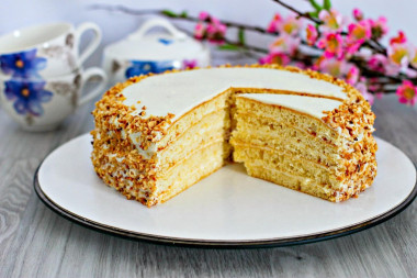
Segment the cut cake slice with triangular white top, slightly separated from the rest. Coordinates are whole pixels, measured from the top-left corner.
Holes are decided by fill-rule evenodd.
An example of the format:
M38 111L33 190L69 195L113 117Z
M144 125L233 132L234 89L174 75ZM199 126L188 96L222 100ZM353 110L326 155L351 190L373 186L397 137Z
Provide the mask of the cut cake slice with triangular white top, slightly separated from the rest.
M322 120L340 104L294 94L238 94L234 160L244 163L250 176L323 199L357 196L369 187L367 178L376 165L370 153L362 153L363 140L356 143ZM347 149L352 149L348 160L341 155Z

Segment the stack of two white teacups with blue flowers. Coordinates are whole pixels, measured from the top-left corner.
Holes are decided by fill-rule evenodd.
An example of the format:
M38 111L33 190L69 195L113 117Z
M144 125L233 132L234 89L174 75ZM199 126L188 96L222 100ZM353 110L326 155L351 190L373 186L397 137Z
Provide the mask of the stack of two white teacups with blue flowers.
M81 35L94 37L79 52ZM97 49L101 31L86 22L77 29L53 23L16 30L0 36L0 104L23 129L53 130L75 111L102 93L108 78L101 68L82 69ZM81 96L88 80L99 80Z

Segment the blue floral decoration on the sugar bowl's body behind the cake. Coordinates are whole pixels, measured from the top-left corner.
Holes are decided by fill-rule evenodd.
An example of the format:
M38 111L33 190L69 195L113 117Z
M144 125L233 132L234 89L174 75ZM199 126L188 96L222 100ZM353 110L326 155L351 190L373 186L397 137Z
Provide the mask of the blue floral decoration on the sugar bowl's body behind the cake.
M125 71L125 77L147 75L147 74L161 74L166 70L179 68L172 62L154 62L154 60L132 60L131 67ZM181 65L179 65L181 67Z

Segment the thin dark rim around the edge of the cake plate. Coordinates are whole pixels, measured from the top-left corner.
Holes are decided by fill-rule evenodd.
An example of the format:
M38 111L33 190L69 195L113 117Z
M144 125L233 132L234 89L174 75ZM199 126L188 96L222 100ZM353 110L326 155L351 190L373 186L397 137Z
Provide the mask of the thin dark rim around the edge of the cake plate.
M76 136L72 140L79 138L81 136L86 136L86 134L81 134L79 136ZM380 138L380 137L379 137ZM70 141L72 141L70 140ZM380 138L382 140L382 138ZM58 215L71 221L72 223L79 224L81 226L88 227L90 230L110 234L113 236L127 238L132 241L144 241L148 243L154 244L162 244L162 245L171 245L171 246L187 246L187 247L203 247L203 248L259 248L259 247L284 247L284 246L291 246L291 245L301 245L301 244L309 244L315 242L322 242L327 240L333 240L346 235L350 235L353 233L358 233L364 230L368 230L370 227L373 227L375 225L379 225L393 216L397 215L402 211L404 211L409 204L413 203L413 201L417 197L417 176L415 180L415 185L413 187L412 192L407 196L407 198L404 199L403 202L397 204L396 207L392 208L387 212L376 215L372 219L369 219L364 222L345 226L341 229L337 229L334 231L323 232L323 233L315 233L304 236L294 236L294 237L285 237L285 238L266 238L266 240L247 240L247 241L215 241L215 240L198 240L198 238L182 238L182 237L171 237L171 236L161 236L161 235L153 235L147 233L139 233L139 232L133 232L127 231L123 229L117 229L114 226L104 225L102 223L86 219L81 215L78 215L74 212L70 212L64 208L61 208L59 204L55 203L53 200L50 200L42 190L40 181L38 181L38 171L45 162L45 159L57 148L64 146L65 144L69 143L70 141L59 145L54 151L52 151L41 163L40 166L36 168L34 179L33 179L33 186L35 189L35 192L37 197L41 199L41 201L52 211L57 213ZM412 163L414 166L414 169L417 173L416 164L398 147L394 146L390 142L382 140L385 143L392 145L397 151L402 152Z

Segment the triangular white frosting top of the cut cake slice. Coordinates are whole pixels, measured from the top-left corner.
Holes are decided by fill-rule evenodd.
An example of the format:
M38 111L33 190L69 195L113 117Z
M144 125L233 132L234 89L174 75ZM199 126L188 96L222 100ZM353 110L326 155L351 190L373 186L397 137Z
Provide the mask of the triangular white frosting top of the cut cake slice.
M290 108L319 119L326 115L323 111L331 111L341 104L341 101L338 100L296 94L241 93L237 94L237 97Z

